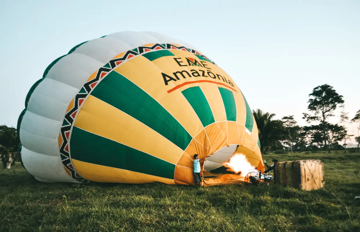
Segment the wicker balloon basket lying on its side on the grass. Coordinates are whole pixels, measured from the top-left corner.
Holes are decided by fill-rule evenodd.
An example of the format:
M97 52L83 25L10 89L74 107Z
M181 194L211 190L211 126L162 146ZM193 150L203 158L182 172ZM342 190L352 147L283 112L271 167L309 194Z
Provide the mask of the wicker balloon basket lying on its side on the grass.
M324 187L324 166L321 160L279 162L274 170L275 184L314 190Z

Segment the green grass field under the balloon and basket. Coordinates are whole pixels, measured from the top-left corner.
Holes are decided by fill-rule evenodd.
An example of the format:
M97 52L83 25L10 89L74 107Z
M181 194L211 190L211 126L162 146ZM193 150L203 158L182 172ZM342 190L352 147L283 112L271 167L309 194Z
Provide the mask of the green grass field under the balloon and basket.
M264 155L320 159L360 170L360 154ZM21 164L0 170L0 231L360 231L360 181L325 166L325 190L161 183L46 184ZM351 215L351 221L345 206Z

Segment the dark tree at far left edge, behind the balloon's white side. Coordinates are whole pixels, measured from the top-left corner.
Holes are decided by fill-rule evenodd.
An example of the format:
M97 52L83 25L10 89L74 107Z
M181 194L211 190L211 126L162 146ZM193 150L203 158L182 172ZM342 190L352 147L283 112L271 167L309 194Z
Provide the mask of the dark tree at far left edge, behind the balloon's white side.
M15 165L14 156L18 150L19 142L15 128L0 126L0 157L4 168L10 169Z

